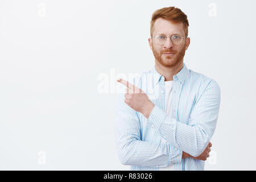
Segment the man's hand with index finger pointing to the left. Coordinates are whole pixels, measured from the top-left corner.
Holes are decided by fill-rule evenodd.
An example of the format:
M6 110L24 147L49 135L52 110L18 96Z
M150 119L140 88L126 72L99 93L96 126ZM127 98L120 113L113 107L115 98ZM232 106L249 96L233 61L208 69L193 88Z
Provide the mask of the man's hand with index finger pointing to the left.
M125 103L132 109L142 113L146 118L148 118L155 105L150 101L147 94L137 86L134 86L122 78L119 78L117 81L127 86L125 93Z

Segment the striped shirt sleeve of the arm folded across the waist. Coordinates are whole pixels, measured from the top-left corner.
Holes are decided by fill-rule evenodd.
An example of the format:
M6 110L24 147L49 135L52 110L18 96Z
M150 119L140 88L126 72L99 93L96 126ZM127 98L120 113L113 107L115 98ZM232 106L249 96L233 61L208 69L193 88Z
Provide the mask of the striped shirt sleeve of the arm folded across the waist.
M122 164L130 166L166 167L180 163L183 152L171 144L141 140L141 124L137 111L125 102L120 94L117 102L115 140L118 157Z

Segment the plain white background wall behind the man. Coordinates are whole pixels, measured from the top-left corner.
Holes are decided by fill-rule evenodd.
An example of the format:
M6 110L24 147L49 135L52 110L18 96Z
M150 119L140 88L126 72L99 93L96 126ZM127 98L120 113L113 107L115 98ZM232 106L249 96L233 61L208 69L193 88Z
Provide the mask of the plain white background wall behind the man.
M176 6L189 20L184 63L221 88L205 170L255 170L255 5L1 0L0 169L129 169L115 146L115 78L154 66L151 15Z

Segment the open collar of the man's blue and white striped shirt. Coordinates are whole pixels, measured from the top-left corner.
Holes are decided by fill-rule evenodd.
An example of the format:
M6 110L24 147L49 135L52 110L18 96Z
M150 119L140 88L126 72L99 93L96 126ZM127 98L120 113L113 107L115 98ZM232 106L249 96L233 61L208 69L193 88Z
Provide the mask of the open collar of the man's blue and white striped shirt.
M158 71L156 71L155 65L151 69L151 73L152 73L152 77L154 79L154 84L158 84L158 82L160 80L164 81L163 75L160 75L160 73ZM183 68L179 71L179 73L174 75L174 80L177 79L181 82L181 84L184 84L184 82L188 76L188 73L189 73L188 68L186 67L185 63L183 63Z

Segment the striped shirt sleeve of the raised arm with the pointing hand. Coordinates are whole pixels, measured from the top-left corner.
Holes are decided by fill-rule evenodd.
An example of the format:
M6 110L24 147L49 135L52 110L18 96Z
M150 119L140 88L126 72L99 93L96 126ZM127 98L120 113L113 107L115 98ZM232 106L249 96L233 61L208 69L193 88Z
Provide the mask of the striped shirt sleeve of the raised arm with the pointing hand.
M188 125L171 118L158 106L152 109L147 122L167 142L196 157L203 153L214 133L219 108L220 88L212 80L196 101Z

